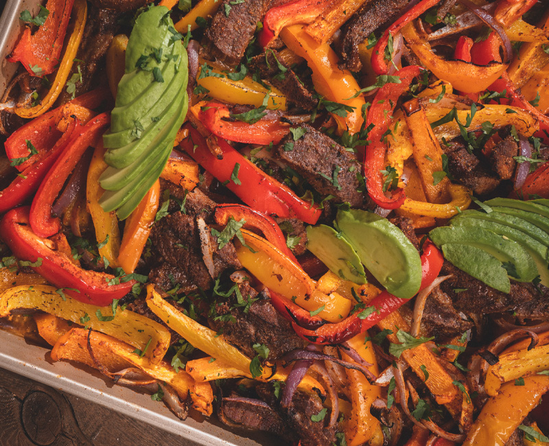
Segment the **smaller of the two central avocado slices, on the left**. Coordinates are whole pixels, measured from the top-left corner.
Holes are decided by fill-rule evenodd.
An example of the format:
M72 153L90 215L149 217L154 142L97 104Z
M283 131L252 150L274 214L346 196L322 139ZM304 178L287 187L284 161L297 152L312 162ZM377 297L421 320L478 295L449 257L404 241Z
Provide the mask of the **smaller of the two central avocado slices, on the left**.
M342 279L360 285L366 283L364 266L357 253L334 228L325 224L307 226L307 249Z

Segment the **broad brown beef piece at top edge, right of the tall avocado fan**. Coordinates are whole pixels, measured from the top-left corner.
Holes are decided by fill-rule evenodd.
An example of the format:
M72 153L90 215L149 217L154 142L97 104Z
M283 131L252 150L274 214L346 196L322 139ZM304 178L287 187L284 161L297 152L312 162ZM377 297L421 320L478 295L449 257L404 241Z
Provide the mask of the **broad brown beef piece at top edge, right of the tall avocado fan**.
M235 3L237 2L223 0L205 32L207 47L211 54L231 67L238 64L244 56L257 22L263 19L270 0L246 0Z

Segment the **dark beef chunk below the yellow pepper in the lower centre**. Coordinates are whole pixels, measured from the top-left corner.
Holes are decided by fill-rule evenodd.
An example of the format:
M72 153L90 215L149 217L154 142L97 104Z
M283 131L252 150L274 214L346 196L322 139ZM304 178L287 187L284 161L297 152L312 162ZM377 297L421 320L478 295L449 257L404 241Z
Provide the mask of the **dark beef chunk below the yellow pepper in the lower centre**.
M307 342L296 335L290 322L274 309L264 294L258 296L248 282L239 283L238 287L244 301L259 300L253 301L246 309L244 305L237 305L237 298L233 295L229 301L215 307L218 316L231 314L233 318L211 321L215 329L222 329L223 336L231 344L249 357L257 355L253 344L265 344L269 349L269 361L277 360L292 350L305 348Z

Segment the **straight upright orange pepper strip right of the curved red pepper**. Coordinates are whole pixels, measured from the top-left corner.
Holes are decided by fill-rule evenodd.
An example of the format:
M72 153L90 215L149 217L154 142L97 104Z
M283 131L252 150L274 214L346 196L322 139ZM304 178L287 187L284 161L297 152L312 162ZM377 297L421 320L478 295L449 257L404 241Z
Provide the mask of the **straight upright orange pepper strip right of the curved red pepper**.
M404 104L404 110L412 140L414 162L417 165L427 201L447 202L449 179L443 170L443 152L439 140L434 136L425 110L419 105L417 99Z

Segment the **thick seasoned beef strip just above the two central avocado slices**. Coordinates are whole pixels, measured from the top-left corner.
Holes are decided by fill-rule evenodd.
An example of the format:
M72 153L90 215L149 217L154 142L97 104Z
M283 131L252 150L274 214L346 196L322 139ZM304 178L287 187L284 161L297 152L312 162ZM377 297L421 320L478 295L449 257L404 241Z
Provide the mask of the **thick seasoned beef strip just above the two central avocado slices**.
M330 137L307 124L301 127L307 130L303 137L294 141L290 134L283 139L280 158L319 193L336 197L336 202L361 207L364 194L358 191L357 179L360 163Z

